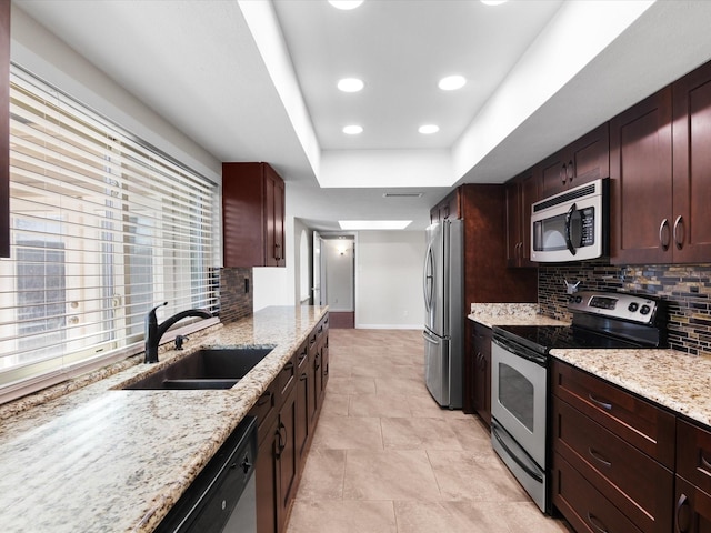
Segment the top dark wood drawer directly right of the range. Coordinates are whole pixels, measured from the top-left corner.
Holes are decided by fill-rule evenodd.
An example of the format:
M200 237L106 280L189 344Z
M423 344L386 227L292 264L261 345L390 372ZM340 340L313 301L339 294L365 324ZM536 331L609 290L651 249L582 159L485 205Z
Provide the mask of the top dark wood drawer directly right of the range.
M553 361L551 391L615 435L674 467L675 416L599 378Z

